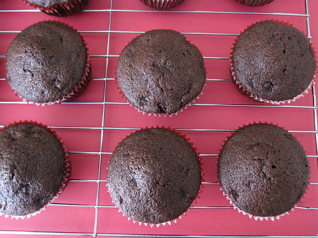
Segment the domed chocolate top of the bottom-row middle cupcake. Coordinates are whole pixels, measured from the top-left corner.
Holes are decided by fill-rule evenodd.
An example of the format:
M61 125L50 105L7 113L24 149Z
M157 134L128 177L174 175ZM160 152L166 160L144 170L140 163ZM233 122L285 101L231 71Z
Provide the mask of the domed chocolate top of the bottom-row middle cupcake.
M107 186L129 218L160 224L178 218L196 198L201 183L198 157L171 130L143 129L116 147L107 170Z

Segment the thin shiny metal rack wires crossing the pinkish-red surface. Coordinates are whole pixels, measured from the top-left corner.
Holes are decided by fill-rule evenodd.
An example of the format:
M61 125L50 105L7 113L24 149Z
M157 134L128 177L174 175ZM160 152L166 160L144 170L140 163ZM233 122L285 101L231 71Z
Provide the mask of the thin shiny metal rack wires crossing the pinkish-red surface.
M115 105L122 105L122 104L128 104L128 103L121 103L121 102L106 102L106 86L108 80L115 80L114 78L109 78L107 75L107 68L108 68L108 60L109 58L116 58L119 57L118 55L109 55L109 40L110 40L110 34L111 33L143 33L143 31L115 31L111 30L111 17L112 12L154 12L156 10L122 10L122 9L113 9L112 8L113 0L110 2L110 9L94 9L94 10L84 10L87 12L102 12L106 11L109 12L109 26L108 30L105 31L79 31L81 33L108 33L108 40L107 40L107 51L106 55L95 55L90 56L92 58L98 57L98 58L106 58L106 68L105 68L105 78L94 78L93 80L102 80L105 81L104 83L104 97L103 102L65 102L63 104L100 104L103 105L103 115L102 115L102 123L101 127L77 127L77 126L49 126L53 129L56 128L64 128L64 129L87 129L87 130L101 130L101 137L100 137L100 149L96 152L79 152L79 151L70 151L70 154L96 154L99 155L99 165L98 165L98 179L71 179L70 182L96 182L97 183L97 191L96 191L96 205L77 205L77 204L57 204L53 203L51 206L72 206L72 207L91 207L95 208L95 222L94 222L94 232L93 233L60 233L60 232L29 232L29 231L0 231L0 234L7 234L7 235L64 235L64 236L82 236L82 237L136 237L136 238L144 238L144 237L151 237L151 238L215 238L220 236L159 236L159 235L132 235L132 234L99 234L97 233L97 219L98 219L98 209L99 208L107 208L107 209L113 209L115 206L100 206L98 205L99 201L99 187L100 182L106 182L106 180L100 179L101 175L101 156L104 154L112 154L111 152L102 152L102 144L103 144L103 132L104 130L137 130L140 128L124 128L124 127L105 127L104 125L104 116L105 116L105 105L107 104L115 104ZM306 4L306 14L293 14L293 13L265 13L265 12L217 12L217 11L156 11L159 14L162 12L175 12L175 13L208 13L208 14L262 14L262 15L288 15L288 16L300 16L300 17L306 17L307 20L307 31L308 31L308 38L311 39L310 34L310 15L309 15L309 9L308 9L308 0L305 0ZM38 12L39 10L0 10L0 14L2 12ZM11 33L19 33L19 31L0 31L0 34L11 34ZM236 33L211 33L211 32L182 32L182 34L185 35L224 35L224 36L236 36L239 34ZM0 58L5 58L5 56L0 56ZM204 59L218 59L218 60L229 60L229 58L222 58L222 57L212 57L212 56L205 56ZM0 78L0 80L5 80L4 78ZM207 81L229 81L228 79L207 79ZM281 107L281 108L295 108L295 109L307 109L307 110L313 110L314 111L314 117L315 117L315 130L312 131L291 131L290 132L296 132L296 133L315 133L316 135L316 155L307 155L308 158L318 158L318 117L317 117L317 101L316 101L316 91L315 86L312 87L313 89L313 102L314 106L290 106L290 105L236 105L236 104L192 104L192 106L210 106L210 107ZM0 104L26 104L26 102L5 102L0 101ZM4 125L0 125L0 127L3 127ZM234 131L234 129L187 129L187 128L177 128L176 130L180 131ZM210 157L216 157L217 154L201 154L201 157L210 156ZM216 182L203 182L203 184L207 185L216 185ZM311 182L311 185L318 185L318 182ZM297 209L309 209L309 210L318 210L318 208L314 207L296 207ZM228 207L215 207L215 206L193 206L190 209L233 209L233 206ZM227 236L222 236L227 237ZM267 236L257 236L257 238L266 238ZM291 238L295 236L275 236L275 238ZM296 238L317 238L317 236L297 236ZM238 238L253 238L253 236L239 236ZM255 237L256 238L256 237Z

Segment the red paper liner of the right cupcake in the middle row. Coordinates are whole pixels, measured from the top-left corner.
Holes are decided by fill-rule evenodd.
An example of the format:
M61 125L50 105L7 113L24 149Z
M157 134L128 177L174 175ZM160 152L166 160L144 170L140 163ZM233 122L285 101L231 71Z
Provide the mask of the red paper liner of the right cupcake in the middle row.
M265 21L268 21L268 19L266 19ZM284 22L284 21L279 21L279 20L274 20L274 19L270 19L270 21L274 21L276 23L281 23L281 24L284 24L284 25L288 25L288 26L293 26L293 24L289 23L289 22ZM257 22L260 22L260 21L257 21ZM255 22L255 23L257 23ZM253 23L253 24L255 24ZM253 25L251 24L251 25ZM249 28L251 25L247 26L244 31ZM242 32L240 32L241 34ZM303 32L304 33L304 32ZM304 35L306 35L304 33ZM235 46L235 43L237 42L237 40L239 39L239 36L235 39L235 42L231 48L231 52L230 52L230 73L231 73L231 80L232 82L235 84L236 88L239 90L239 92L245 96L247 96L249 99L252 99L256 102L261 102L261 103L270 103L270 104L276 104L276 105L279 105L279 104L284 104L284 103L291 103L291 102L295 102L296 99L300 98L300 97L304 97L305 94L309 93L308 90L311 89L311 87L315 84L315 80L316 80L316 76L317 76L317 69L314 73L314 76L313 76L313 80L311 81L311 83L309 84L309 86L305 89L304 92L302 92L301 94L297 95L296 97L293 97L291 99L288 99L288 100L283 100L283 101L274 101L274 100L268 100L268 99L263 99L259 96L257 96L255 93L253 92L250 92L248 91L248 89L246 89L244 87L244 85L241 84L241 82L239 81L238 77L237 77L237 74L235 72L235 66L234 66L234 63L233 63L233 50L234 50L234 46ZM315 60L316 60L316 65L318 65L318 60L317 60L317 53L315 51L315 49L313 48L314 50L314 54L315 54Z

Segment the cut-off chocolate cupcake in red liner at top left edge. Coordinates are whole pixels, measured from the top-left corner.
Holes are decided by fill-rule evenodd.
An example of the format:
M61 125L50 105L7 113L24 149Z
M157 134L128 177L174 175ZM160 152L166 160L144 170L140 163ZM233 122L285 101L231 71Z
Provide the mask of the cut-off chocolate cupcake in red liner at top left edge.
M88 0L23 0L52 16L71 16L83 10Z

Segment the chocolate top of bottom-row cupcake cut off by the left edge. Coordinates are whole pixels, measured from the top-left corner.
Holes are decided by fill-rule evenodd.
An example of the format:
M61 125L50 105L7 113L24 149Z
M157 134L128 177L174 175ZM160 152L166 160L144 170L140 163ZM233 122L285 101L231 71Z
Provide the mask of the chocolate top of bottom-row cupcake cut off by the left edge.
M61 142L41 125L18 123L0 130L0 212L39 211L62 187L65 166Z

